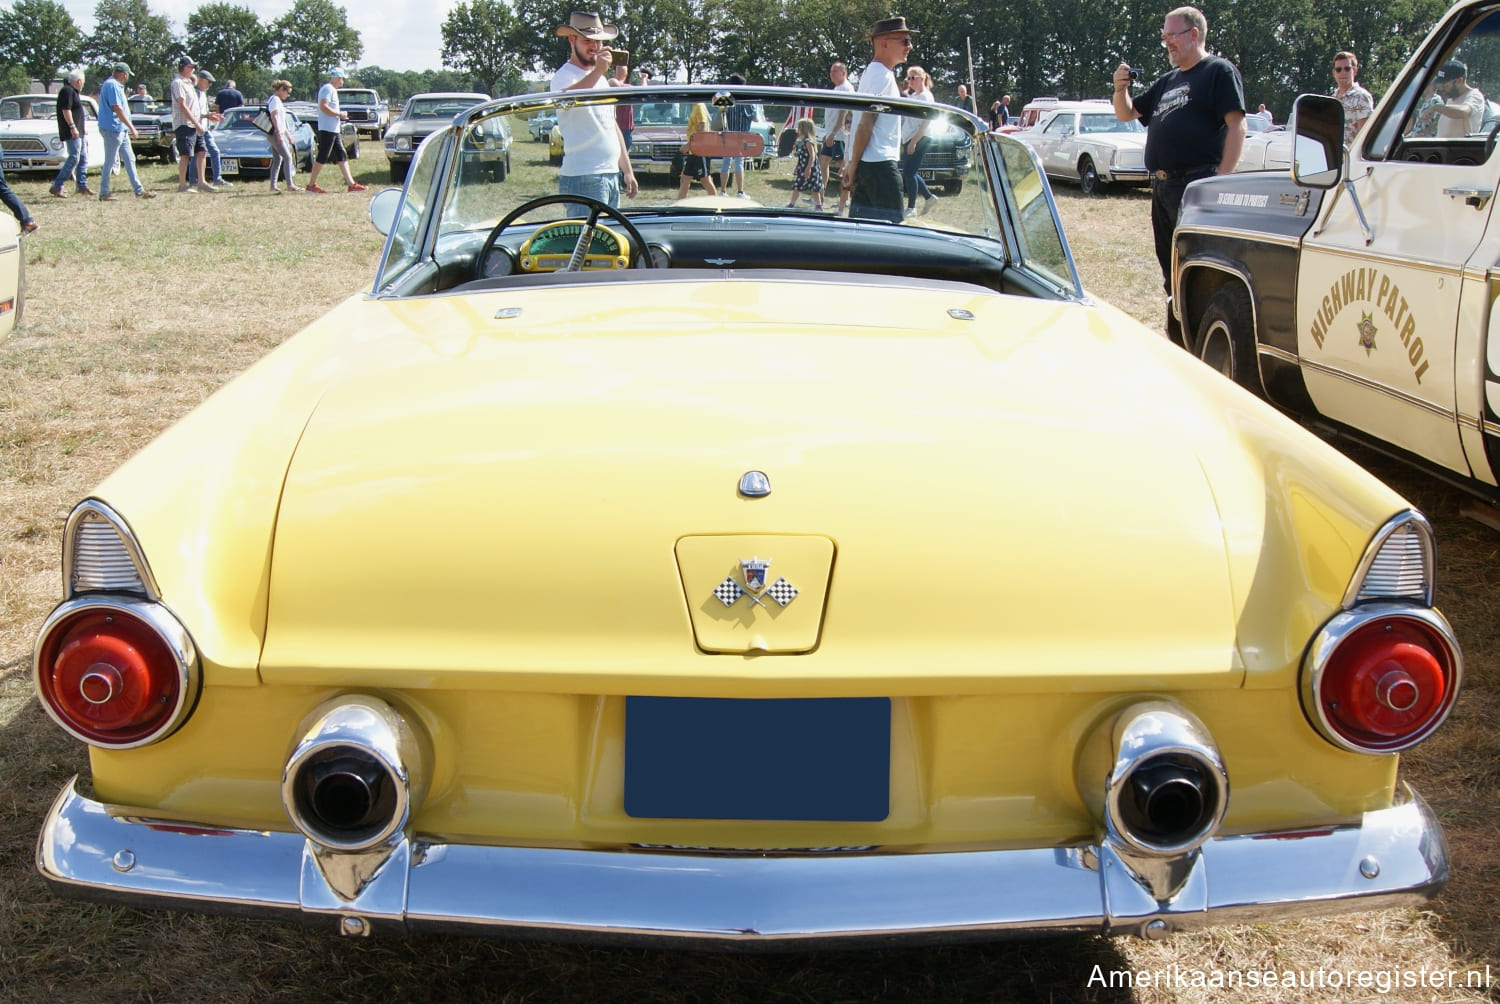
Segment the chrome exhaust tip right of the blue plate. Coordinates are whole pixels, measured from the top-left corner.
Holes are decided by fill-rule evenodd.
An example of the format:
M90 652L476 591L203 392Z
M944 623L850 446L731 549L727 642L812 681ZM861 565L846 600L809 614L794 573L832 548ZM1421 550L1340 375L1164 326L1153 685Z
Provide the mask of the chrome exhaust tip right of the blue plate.
M1218 747L1191 711L1167 701L1132 704L1095 728L1077 780L1107 836L1152 857L1194 851L1228 809Z

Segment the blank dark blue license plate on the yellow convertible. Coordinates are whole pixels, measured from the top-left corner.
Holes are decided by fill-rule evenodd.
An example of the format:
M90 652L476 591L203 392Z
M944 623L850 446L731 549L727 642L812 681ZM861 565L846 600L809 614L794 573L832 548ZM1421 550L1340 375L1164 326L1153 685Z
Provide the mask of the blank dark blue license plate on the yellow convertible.
M890 698L626 698L626 815L879 821Z

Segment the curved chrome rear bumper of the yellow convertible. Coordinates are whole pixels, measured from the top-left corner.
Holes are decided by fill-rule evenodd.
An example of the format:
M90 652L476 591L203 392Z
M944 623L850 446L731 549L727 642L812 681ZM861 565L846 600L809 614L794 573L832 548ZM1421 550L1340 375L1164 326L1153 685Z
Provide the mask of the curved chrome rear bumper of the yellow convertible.
M1368 812L1358 825L1212 839L1180 891L1158 902L1108 843L772 857L410 839L369 867L368 855L320 855L300 833L152 819L84 798L75 782L52 804L36 851L58 891L326 917L356 935L447 929L716 947L1029 932L1161 936L1414 903L1448 881L1443 833L1408 789L1402 804Z

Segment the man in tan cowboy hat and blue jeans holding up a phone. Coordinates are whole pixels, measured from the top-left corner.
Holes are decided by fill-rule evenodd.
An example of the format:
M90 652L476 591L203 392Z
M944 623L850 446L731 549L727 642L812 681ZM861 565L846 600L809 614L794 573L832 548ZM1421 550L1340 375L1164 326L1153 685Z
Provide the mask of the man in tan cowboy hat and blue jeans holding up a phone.
M597 14L574 11L556 33L567 39L568 60L552 75L552 90L608 90L614 65L604 42L615 39L620 29L604 24ZM630 150L615 122L615 110L608 104L574 107L558 111L562 131L562 170L558 171L558 192L586 195L606 206L620 206L620 188L636 197L636 173L630 168ZM582 207L568 210L572 216L586 215Z

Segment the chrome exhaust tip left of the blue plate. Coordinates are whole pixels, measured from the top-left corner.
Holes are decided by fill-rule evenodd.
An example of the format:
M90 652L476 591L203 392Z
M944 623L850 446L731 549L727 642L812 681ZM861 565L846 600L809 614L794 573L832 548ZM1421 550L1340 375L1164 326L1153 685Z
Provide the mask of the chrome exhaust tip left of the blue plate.
M330 851L393 840L426 791L426 758L396 708L348 695L322 704L282 771L292 825Z

